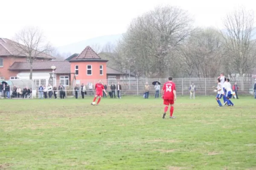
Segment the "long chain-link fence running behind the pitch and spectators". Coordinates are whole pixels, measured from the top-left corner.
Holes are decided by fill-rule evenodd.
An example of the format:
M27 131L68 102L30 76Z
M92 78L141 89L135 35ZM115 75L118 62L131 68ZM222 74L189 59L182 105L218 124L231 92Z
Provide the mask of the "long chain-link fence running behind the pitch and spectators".
M108 79L108 80L101 80L106 86L107 86L107 92L111 91L111 84L117 85L118 83L122 86L122 95L137 95L137 96L143 96L144 94L144 87L145 83L148 82L150 85L150 95L155 94L154 85L152 82L158 81L160 82L160 86L162 88L163 84L168 81L167 79L135 79L135 80L119 80L119 79ZM173 81L176 84L176 91L177 95L189 95L189 86L193 82L195 84L195 94L196 95L215 95L216 92L213 91L212 86L217 85L217 78L175 78ZM23 82L23 84L19 84L20 82ZM38 87L35 85L34 81L27 80L21 81L7 81L6 83L10 84L10 95L12 95L12 90L14 86L21 88L21 95L23 92L23 88L32 88L32 98L38 98ZM81 98L81 85L84 84L87 96L94 95L94 86L96 83L98 83L99 80L76 80L73 82L69 82L69 84L64 85L65 87L65 95L66 96L75 96L75 90L74 87L79 87L79 98ZM51 84L54 84L53 81L50 81ZM256 78L230 78L230 84L235 84L239 86L238 94L239 95L253 95L253 86L256 83ZM57 97L60 97L60 93L58 92L58 86L60 85L60 82L56 81L56 88L57 88ZM116 87L117 88L117 87ZM117 90L117 89L116 89ZM0 98L3 97L3 91L0 93Z

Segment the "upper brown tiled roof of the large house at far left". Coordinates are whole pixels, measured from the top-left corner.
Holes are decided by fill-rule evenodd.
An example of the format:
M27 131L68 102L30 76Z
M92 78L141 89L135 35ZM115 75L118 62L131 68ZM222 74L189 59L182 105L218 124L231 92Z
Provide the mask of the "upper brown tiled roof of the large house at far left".
M25 54L25 53L26 52L24 52L22 49L20 49L17 46L17 43L15 43L14 41L9 40L7 38L0 38L0 56L14 55L14 56L26 57L28 54ZM43 52L41 54L39 54L37 57L38 58L55 59L54 57L47 55Z

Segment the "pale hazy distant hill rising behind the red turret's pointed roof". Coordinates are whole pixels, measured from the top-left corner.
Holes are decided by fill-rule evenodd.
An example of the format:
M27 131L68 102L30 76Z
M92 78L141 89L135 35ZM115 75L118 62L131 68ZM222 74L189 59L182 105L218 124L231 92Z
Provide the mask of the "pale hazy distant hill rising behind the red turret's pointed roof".
M86 46L92 46L97 44L97 46L105 46L107 43L116 43L122 37L122 34L117 35L106 35L101 37L95 37L88 40L83 40L77 43L68 44L65 46L57 47L60 53L80 53Z

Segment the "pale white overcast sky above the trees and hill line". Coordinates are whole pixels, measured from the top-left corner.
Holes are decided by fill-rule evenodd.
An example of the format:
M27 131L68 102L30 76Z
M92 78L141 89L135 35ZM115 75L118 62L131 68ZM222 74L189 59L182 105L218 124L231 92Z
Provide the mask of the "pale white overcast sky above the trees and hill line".
M62 46L124 33L134 17L161 4L187 10L195 26L219 29L225 14L239 6L256 12L255 0L0 0L0 37L39 26L54 46Z

